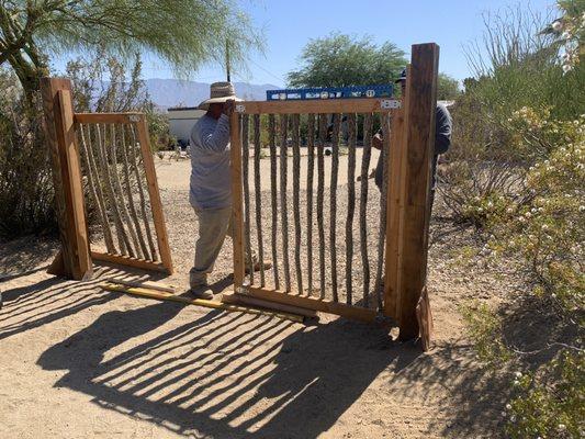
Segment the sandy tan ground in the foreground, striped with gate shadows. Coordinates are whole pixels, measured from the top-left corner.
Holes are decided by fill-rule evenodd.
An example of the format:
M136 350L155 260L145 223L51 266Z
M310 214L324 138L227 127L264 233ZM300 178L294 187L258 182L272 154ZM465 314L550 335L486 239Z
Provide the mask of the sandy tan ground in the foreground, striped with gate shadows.
M189 165L157 171L177 267L164 281L184 286L196 233ZM427 353L344 319L305 326L108 293L103 278L145 273L99 266L89 282L64 281L45 273L57 243L0 243L0 438L497 437L504 390L477 364L459 306L498 301L511 282L453 266L471 233L437 204ZM217 291L230 282L229 247Z

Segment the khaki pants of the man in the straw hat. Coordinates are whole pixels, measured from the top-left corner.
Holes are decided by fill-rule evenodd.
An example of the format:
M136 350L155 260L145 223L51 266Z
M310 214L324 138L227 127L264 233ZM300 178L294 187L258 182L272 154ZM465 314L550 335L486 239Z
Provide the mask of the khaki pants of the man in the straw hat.
M233 238L232 207L195 209L199 219L199 237L195 243L195 259L189 272L191 288L205 284L222 250L225 236ZM256 262L256 255L251 259ZM249 263L249 257L246 256Z

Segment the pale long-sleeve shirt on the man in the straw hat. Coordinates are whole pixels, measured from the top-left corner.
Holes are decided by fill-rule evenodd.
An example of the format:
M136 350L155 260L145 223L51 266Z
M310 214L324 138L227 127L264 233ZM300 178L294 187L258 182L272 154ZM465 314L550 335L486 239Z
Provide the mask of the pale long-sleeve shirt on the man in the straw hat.
M191 131L189 202L195 209L232 205L229 117L201 117Z

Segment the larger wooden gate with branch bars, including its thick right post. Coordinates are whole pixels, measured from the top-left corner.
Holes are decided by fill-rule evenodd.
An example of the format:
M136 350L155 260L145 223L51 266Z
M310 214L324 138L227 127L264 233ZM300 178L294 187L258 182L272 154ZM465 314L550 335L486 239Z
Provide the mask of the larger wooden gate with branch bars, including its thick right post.
M392 317L400 324L401 338L419 334L417 305L423 322L430 312L423 291L438 54L436 44L413 46L402 102L238 102L230 120L236 292L365 322ZM368 178L375 165L372 135L378 124L384 138L380 192ZM262 143L268 145L270 169L261 160ZM340 189L340 155L346 148L347 189ZM272 259L270 271L254 272L246 257L252 248L260 262Z

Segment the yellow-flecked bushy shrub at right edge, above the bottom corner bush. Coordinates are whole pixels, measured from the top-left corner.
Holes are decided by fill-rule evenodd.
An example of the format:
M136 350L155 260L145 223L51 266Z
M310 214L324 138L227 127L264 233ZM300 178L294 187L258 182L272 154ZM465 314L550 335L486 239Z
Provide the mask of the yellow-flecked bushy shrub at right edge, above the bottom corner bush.
M548 110L528 108L510 117L516 148L542 158L526 173L529 196L491 222L496 250L519 256L537 292L572 313L583 309L585 293L585 114L548 117Z

